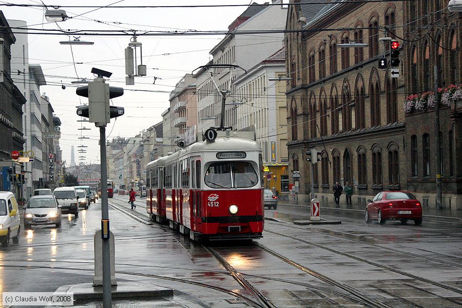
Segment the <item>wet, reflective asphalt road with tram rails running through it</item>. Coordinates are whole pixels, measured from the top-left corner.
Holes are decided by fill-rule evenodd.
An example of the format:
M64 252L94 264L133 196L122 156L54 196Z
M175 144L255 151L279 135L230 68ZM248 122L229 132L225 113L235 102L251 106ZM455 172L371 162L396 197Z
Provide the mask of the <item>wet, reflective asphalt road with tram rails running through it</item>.
M266 220L257 244L205 247L165 225L146 224L144 199L134 211L127 199L109 199L116 207L109 208L116 276L174 288L176 296L160 306L462 306L456 221L365 224L360 213L333 210L324 218L341 219L341 225L297 226L292 221L307 219L307 209L279 205L265 215L283 222ZM22 230L18 245L0 248L0 293L91 282L100 218L98 202L76 219L63 216L60 228Z

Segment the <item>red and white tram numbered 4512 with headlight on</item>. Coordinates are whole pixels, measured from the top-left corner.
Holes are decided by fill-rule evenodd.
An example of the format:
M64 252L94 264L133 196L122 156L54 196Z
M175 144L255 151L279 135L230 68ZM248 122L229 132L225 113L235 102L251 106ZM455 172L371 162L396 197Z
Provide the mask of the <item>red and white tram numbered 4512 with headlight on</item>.
M147 164L147 213L194 240L261 238L263 164L255 132L207 132L208 140Z

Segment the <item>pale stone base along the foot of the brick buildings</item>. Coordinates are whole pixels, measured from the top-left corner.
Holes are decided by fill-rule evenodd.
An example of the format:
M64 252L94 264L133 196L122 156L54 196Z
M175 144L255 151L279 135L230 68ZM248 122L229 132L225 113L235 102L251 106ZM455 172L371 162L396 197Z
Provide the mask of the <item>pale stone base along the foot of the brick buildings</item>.
M436 194L421 194L415 193L414 196L422 203L422 207L424 208L434 208L436 209ZM353 205L367 205L368 199L373 199L373 196L366 196L366 195L353 195L351 196L351 202ZM333 194L316 194L315 198L319 199L319 203L321 206L329 207L329 205L334 205L334 195ZM290 198L292 201L292 198ZM310 202L310 195L298 195L299 202ZM347 200L345 199L345 195L340 196L340 204L347 204ZM451 209L451 210L462 210L462 195L454 195L454 194L443 194L442 195L442 207L443 209Z

